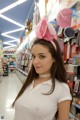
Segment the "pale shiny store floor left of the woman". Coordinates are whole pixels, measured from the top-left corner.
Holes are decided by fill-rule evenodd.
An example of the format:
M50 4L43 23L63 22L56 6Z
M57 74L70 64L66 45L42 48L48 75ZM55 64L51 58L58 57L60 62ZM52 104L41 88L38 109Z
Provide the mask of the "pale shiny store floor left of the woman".
M22 83L16 73L10 73L9 76L4 76L0 83L0 120L13 120L14 109L11 108L11 103L14 101ZM5 117L1 119L1 117Z

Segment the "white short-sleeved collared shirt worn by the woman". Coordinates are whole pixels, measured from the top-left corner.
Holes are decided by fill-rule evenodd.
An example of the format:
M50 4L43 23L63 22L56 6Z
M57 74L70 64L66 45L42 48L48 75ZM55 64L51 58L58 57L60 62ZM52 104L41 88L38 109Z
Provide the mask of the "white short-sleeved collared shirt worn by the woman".
M15 120L53 120L57 112L57 103L71 100L69 87L56 81L54 92L44 95L51 88L48 80L33 88L33 83L15 103Z

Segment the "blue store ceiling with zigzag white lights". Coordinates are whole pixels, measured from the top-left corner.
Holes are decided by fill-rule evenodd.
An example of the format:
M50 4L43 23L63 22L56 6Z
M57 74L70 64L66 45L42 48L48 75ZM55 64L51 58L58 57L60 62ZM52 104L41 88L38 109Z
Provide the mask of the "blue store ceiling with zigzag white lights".
M17 41L20 40L20 37L25 35L26 19L30 19L31 21L33 19L34 0L25 0L22 4L18 4L7 11L4 9L5 7L9 8L11 4L18 1L24 0L0 0L0 39L3 41L3 47L6 48L7 46L15 47L15 45L17 45ZM38 0L36 0L36 2L37 1ZM5 20L5 18L7 18L7 20ZM10 19L14 20L14 22L9 21ZM17 25L15 23L17 23ZM20 31L5 33L17 29L20 29Z

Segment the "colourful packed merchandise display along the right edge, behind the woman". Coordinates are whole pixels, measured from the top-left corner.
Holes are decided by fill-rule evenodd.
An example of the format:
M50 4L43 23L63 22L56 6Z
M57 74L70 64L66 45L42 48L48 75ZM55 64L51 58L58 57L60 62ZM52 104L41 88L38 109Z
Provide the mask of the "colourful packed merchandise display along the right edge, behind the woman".
M58 37L64 41L63 59L67 72L67 83L73 95L70 120L80 119L80 29L77 29L80 9L78 9L78 14L76 12L77 7L80 8L79 5L80 3L75 4L68 11L66 11L67 8L62 9L57 15L57 23L61 28L61 30L58 29ZM68 12L69 14L66 14ZM67 15L69 17L66 19ZM66 22L64 23L64 21ZM75 25L76 27L72 27Z

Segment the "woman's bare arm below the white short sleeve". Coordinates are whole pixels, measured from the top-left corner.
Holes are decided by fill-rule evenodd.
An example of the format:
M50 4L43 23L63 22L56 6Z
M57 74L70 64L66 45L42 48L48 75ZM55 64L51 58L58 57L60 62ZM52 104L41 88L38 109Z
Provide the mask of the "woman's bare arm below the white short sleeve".
M70 100L58 103L58 120L69 120Z

